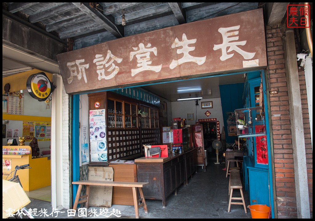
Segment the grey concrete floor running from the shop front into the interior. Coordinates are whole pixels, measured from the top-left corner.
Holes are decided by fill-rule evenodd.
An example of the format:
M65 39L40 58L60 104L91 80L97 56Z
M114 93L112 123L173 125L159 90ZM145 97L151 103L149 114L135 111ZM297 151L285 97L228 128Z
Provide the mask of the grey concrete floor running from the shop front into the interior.
M211 155L211 154L210 154ZM167 198L167 205L162 207L161 200L146 200L149 213L144 213L143 207L139 209L140 218L251 218L249 208L248 192L244 191L245 205L247 213L244 212L243 205L231 205L228 209L228 184L229 178L226 178L225 164L214 164L215 156L210 156L206 172L201 166L198 166L198 173L189 178L188 185L180 186L177 189L177 195L174 193ZM242 177L242 176L241 176ZM243 178L242 178L243 179ZM243 185L244 186L244 185ZM240 197L240 191L234 191L233 197ZM241 202L241 201L240 201ZM85 218L69 216L67 210L60 210L58 213L52 213L50 202L31 199L31 203L26 208L37 208L38 216L35 218ZM47 209L49 217L44 217L40 210ZM100 214L100 209L106 207L89 207L86 218L107 218L103 215L93 216L89 213L95 209L96 215ZM133 206L112 205L108 211L119 211L119 218L135 218ZM39 216L41 214L41 216ZM110 213L107 213L110 215ZM108 215L107 215L108 216ZM108 218L118 218L114 214Z

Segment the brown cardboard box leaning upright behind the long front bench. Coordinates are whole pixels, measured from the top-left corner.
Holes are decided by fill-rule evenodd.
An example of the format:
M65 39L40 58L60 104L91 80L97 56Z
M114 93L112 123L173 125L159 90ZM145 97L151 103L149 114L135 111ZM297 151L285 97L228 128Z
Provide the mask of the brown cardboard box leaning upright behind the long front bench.
M114 170L112 167L89 167L88 180L113 181ZM90 207L111 207L112 186L90 186Z

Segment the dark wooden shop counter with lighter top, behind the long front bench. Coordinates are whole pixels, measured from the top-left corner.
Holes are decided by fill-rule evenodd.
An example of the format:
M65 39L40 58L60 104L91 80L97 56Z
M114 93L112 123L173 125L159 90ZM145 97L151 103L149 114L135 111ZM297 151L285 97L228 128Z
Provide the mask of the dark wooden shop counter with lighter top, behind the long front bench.
M163 159L162 159L163 158ZM197 171L197 149L169 157L142 157L135 159L138 182L149 182L143 187L146 199L162 200L166 206L166 198L177 188L188 183L188 178Z

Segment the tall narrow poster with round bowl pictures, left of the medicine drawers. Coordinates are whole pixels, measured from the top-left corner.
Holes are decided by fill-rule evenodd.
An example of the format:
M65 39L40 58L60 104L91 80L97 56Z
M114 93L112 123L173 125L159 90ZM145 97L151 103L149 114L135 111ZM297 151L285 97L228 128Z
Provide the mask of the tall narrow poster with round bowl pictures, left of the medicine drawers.
M105 109L89 111L91 161L107 161Z

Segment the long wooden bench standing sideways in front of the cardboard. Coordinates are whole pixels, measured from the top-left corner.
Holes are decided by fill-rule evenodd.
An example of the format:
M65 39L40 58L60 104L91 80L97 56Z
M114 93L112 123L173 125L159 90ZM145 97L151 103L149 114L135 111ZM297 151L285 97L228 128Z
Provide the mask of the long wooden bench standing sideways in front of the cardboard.
M86 208L89 208L89 188L90 185L95 186L124 186L124 187L132 187L132 192L134 196L134 204L135 204L135 217L139 218L139 207L143 206L144 212L148 213L148 208L146 206L146 200L144 199L142 187L149 184L149 183L139 183L139 182L111 182L111 181L94 181L94 180L80 180L80 181L73 181L72 184L78 184L78 190L76 199L74 201L73 209L77 209L77 205L79 203L85 202ZM86 195L80 196L82 185L86 185ZM140 193L140 199L138 200L137 196L137 188ZM85 198L79 201L79 199ZM142 202L141 202L142 201Z

